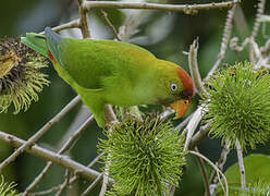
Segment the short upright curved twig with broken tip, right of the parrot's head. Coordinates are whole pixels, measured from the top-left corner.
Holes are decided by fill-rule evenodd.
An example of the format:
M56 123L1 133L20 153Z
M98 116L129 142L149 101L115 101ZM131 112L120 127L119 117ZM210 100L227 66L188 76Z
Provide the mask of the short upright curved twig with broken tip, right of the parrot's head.
M194 39L193 44L189 46L188 66L197 91L199 94L202 94L202 91L205 90L202 87L202 82L198 69L198 61L197 61L198 47L199 47L198 38L196 38Z

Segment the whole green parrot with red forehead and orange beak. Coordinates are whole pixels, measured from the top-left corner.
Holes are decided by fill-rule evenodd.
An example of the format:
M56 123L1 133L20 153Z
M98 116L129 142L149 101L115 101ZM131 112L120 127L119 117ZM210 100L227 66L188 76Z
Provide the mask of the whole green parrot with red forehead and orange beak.
M59 76L81 96L97 124L106 126L105 106L171 105L181 118L195 95L189 75L136 45L63 38L50 27L27 33L22 42L50 59Z

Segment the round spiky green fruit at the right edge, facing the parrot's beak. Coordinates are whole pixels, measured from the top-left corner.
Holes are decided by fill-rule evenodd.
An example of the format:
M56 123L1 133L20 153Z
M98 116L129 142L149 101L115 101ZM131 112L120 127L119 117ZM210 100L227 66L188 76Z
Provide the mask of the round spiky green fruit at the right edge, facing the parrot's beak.
M243 148L265 143L270 136L270 75L254 71L248 62L217 72L206 82L205 121L210 133Z

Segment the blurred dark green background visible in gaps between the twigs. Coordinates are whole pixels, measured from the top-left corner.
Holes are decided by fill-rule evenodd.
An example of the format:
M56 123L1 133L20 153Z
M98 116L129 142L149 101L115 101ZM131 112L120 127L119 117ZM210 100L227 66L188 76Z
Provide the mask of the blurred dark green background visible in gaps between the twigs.
M168 3L206 3L209 1L168 1ZM216 1L217 2L217 1ZM250 35L250 29L256 14L257 1L243 0L242 9L237 10L236 27L233 28L233 36L238 36L241 40ZM270 3L267 2L266 13L270 14ZM106 10L112 23L119 27L124 21L124 14L118 10ZM130 12L131 10L125 10ZM147 12L147 11L144 11ZM247 23L241 21L241 14L244 14ZM225 22L226 10L200 11L196 15L185 15L183 13L150 11L144 22L139 25L139 32L131 40L140 45L157 57L170 60L187 69L187 56L182 51L188 51L193 39L199 37L199 69L201 76L206 76L219 52L222 38L223 26ZM77 17L77 2L75 0L9 0L0 3L0 37L19 37L26 32L42 32L46 26L57 26ZM105 26L105 20L99 10L90 12L90 29L94 38L113 39L110 28ZM266 32L270 34L270 24L267 25ZM78 30L64 30L66 36L78 36ZM260 44L266 41L259 32L257 40ZM233 63L237 60L247 60L247 51L236 56L228 50L223 63ZM0 114L0 131L11 133L17 137L27 139L46 122L56 115L76 94L61 78L58 77L52 66L45 71L49 74L51 85L45 87L39 94L39 101L34 102L26 112L13 115L11 112ZM189 110L196 109L198 97L193 102ZM39 145L56 150L62 144L62 138L71 130L74 119L82 111L82 103L76 106L59 123L52 126L50 131L39 140ZM180 122L180 121L179 121ZM75 125L77 126L77 125ZM69 154L73 159L81 163L87 164L97 156L97 140L102 137L102 132L94 123L83 136L77 140L74 148ZM249 152L263 152L270 155L269 144L259 146L256 150L248 149ZM205 138L199 145L204 155L212 161L217 161L221 151L220 140ZM9 145L0 142L0 161L4 160L14 149ZM228 157L225 168L236 161L235 151ZM193 157L187 158L187 168L184 172L181 187L175 195L197 196L204 193L204 183L196 160ZM46 161L28 154L21 155L4 171L7 181L17 183L20 192L35 179L42 170ZM97 167L98 168L98 167ZM58 185L63 181L64 170L54 166L39 184L37 191L46 189ZM89 182L81 180L77 184L77 191L85 188ZM99 187L96 188L97 193ZM66 193L68 194L68 193ZM52 194L53 195L53 194ZM69 195L69 194L68 194ZM70 194L71 195L71 194ZM72 193L76 195L76 189ZM95 195L95 194L94 194Z

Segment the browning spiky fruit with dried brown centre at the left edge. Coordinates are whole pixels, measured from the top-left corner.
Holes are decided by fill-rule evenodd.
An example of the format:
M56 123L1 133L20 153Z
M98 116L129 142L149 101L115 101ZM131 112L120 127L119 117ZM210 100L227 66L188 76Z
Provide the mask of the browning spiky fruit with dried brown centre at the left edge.
M46 58L21 44L20 39L0 40L0 113L13 103L14 112L26 111L38 100L37 93L49 85L40 69L47 68Z

